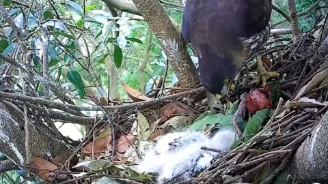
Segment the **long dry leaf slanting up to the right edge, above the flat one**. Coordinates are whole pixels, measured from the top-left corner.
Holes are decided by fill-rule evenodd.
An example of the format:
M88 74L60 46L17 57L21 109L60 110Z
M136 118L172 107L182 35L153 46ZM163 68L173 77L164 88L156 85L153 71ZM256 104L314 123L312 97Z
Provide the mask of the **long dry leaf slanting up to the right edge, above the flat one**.
M314 87L318 87L318 85L320 85L320 83L323 82L323 80L327 77L328 77L328 68L326 68L325 70L316 74L312 78L312 80L310 80L310 82L308 82L308 84L306 84L304 87L302 87L299 90L299 93L297 93L295 99L301 97L304 93L307 93L311 89L314 89Z

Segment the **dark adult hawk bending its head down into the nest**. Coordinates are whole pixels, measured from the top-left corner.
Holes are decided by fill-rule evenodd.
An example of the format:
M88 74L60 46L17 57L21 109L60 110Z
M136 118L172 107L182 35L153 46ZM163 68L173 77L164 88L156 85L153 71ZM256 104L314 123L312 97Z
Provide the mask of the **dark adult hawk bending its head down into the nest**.
M269 39L271 11L271 0L187 0L182 36L198 55L207 91L226 93L226 78L234 78L244 61L258 54ZM265 85L261 57L257 61Z

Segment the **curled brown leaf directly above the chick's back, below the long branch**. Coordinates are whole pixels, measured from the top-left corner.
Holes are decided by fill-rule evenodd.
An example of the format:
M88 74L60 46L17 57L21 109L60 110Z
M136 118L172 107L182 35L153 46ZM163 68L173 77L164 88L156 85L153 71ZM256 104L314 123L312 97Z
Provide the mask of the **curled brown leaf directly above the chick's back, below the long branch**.
M171 118L173 114L189 114L189 111L181 107L178 102L171 102L161 108L159 114L161 117L161 123L167 121L167 119Z

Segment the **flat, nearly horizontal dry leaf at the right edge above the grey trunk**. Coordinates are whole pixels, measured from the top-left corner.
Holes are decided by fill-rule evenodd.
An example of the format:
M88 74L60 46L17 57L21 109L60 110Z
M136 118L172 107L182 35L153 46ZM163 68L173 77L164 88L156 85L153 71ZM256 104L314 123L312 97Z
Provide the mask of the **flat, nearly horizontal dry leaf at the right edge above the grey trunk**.
M316 106L328 106L328 102L318 102L316 99L301 97L292 102L286 102L287 108L312 108Z

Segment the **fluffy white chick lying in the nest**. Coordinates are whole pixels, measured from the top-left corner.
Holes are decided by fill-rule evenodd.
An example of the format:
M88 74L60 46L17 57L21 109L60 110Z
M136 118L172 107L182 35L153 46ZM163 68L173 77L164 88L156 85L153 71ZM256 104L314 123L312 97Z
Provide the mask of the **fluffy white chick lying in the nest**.
M185 181L202 172L219 153L204 151L201 147L230 150L236 134L221 130L212 138L202 132L173 132L161 138L154 149L146 152L137 166L138 172L156 172L157 183Z

